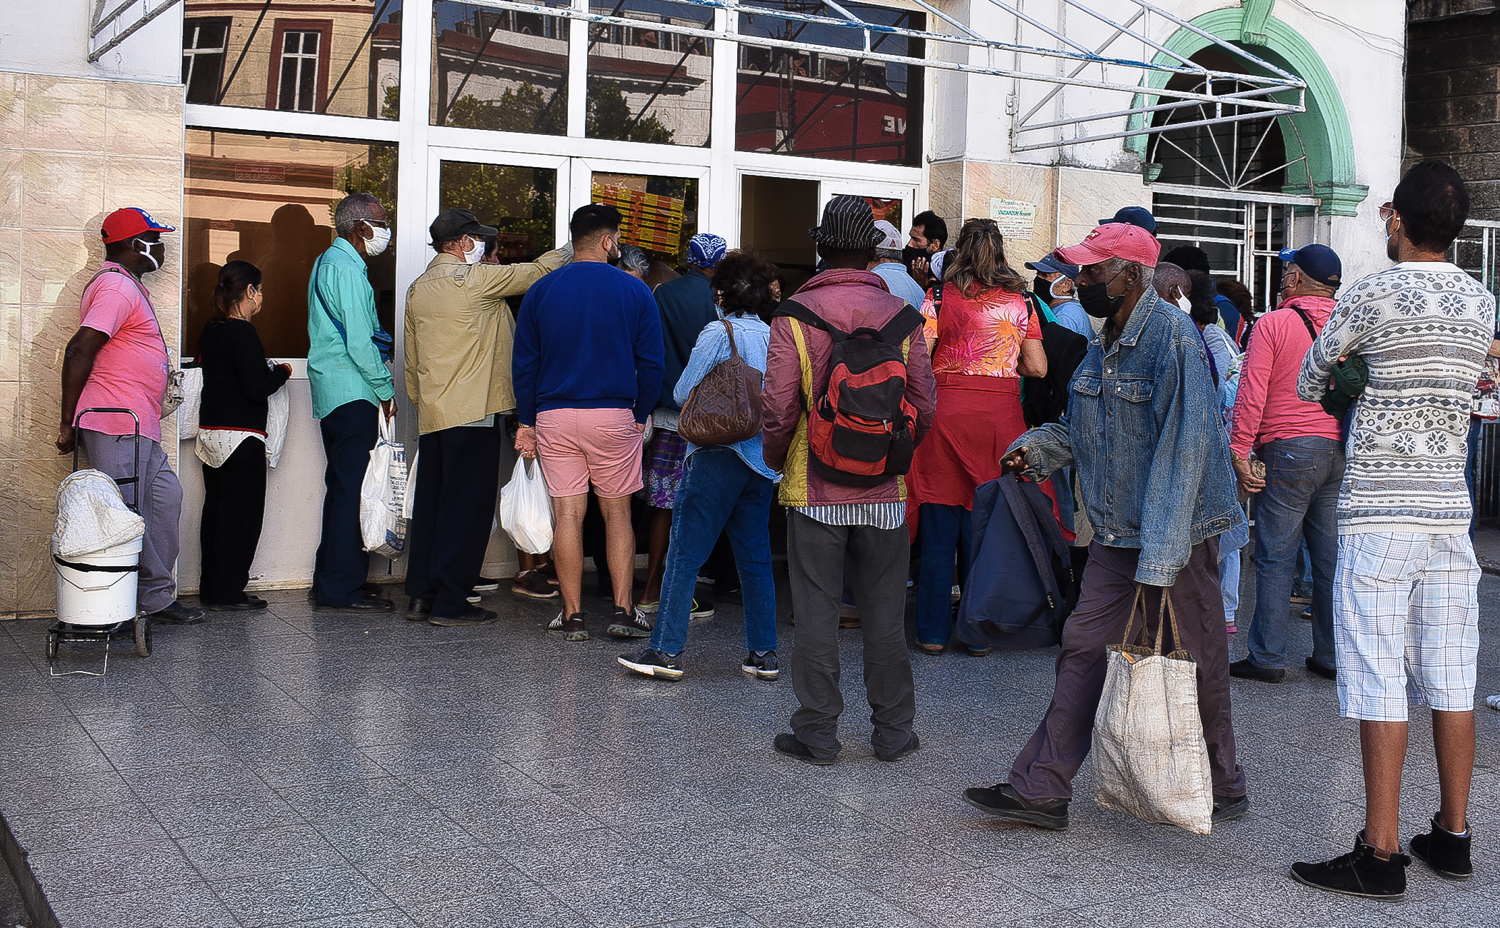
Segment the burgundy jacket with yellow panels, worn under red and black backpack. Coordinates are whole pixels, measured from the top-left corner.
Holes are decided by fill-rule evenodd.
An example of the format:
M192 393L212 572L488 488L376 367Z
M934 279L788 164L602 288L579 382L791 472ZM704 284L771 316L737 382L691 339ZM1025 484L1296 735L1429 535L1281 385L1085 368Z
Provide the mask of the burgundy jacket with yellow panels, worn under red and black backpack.
M792 297L843 331L879 328L906 306L885 280L873 271L830 270L814 276ZM802 325L807 354L813 364L813 390L828 379L828 357L832 340L818 328ZM916 409L912 438L921 442L933 424L938 387L921 325L912 330L906 357L906 402ZM906 481L892 477L873 487L849 487L828 483L807 466L807 430L801 427L802 411L812 397L802 396L802 370L792 339L792 321L771 319L771 349L766 355L765 388L760 394L765 426L760 433L765 463L783 472L782 505L834 505L842 502L900 502L906 498Z

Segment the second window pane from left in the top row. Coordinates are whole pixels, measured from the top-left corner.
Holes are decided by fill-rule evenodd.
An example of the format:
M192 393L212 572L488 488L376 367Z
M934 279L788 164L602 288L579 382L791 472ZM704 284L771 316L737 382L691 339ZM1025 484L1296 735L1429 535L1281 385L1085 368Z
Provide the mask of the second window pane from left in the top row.
M566 135L567 37L561 16L438 0L430 123Z

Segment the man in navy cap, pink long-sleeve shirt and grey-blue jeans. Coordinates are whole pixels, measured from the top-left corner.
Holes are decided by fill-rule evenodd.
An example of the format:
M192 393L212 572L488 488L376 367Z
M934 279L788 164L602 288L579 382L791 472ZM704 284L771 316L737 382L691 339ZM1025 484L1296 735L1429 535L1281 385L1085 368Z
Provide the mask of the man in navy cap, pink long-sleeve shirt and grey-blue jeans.
M1287 675L1287 622L1298 549L1312 558L1310 673L1334 679L1334 565L1338 562L1338 487L1344 481L1340 421L1298 397L1298 372L1334 312L1342 264L1326 244L1281 252L1281 304L1251 330L1239 372L1230 459L1256 502L1256 619L1250 655L1230 676L1269 684ZM1264 475L1250 466L1256 450Z

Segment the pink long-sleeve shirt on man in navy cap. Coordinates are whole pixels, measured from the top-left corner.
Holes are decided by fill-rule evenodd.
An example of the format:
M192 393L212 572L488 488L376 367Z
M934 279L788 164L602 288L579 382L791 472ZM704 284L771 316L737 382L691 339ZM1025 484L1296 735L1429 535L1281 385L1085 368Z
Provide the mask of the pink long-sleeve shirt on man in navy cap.
M1278 438L1341 439L1336 418L1323 412L1323 406L1298 399L1298 372L1312 346L1312 336L1294 306L1302 307L1312 328L1320 331L1334 312L1329 297L1292 297L1256 321L1239 369L1234 433L1228 445L1240 457Z

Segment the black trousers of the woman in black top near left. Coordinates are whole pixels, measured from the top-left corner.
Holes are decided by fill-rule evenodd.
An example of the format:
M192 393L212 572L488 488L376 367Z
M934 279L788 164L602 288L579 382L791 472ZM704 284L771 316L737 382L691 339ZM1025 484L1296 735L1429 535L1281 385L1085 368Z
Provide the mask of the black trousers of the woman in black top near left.
M244 601L266 517L266 442L246 438L218 468L202 469L202 579L198 598Z

